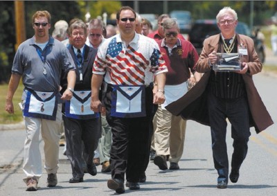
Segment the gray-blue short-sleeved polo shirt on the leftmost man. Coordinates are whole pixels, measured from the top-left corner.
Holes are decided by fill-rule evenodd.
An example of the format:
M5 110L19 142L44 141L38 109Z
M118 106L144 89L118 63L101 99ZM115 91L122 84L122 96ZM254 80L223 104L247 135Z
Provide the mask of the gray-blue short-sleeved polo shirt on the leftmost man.
M64 44L51 36L43 51L35 37L20 44L12 64L12 73L22 75L24 87L35 91L60 91L62 70L75 70L75 64Z

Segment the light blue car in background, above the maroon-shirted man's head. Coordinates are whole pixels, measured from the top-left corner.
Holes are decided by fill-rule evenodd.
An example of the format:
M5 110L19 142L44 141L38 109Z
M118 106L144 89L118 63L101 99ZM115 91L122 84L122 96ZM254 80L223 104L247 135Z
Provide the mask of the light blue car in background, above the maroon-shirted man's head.
M192 18L189 11L173 10L170 17L176 18L179 24L180 33L188 33L192 26Z

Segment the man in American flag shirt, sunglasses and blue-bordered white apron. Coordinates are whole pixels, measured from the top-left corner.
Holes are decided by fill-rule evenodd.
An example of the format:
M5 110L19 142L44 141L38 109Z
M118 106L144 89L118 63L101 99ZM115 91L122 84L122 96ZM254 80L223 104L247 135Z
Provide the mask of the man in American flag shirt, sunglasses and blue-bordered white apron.
M113 134L111 145L111 179L107 186L125 193L126 186L139 189L139 176L148 152L149 127L153 104L165 101L164 84L168 69L154 39L135 33L136 13L122 7L116 22L120 33L98 48L91 79L91 109L99 112L102 103L99 89L105 74L107 93L103 102ZM155 77L157 92L153 94Z

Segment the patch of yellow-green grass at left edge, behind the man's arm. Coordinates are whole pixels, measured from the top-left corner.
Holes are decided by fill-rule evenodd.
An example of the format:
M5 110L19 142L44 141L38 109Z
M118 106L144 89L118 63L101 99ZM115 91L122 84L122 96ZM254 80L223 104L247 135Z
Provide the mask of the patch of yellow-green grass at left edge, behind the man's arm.
M19 84L17 91L12 99L13 106L15 108L15 114L8 114L6 112L6 95L8 92L8 84L0 85L0 124L11 124L19 123L23 120L22 111L19 108L18 103L21 102L22 91L24 87L22 84Z

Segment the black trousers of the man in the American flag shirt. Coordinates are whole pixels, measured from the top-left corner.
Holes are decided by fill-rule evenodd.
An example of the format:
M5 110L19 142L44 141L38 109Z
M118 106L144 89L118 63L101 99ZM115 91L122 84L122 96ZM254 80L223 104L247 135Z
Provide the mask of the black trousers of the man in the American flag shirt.
M153 93L150 87L145 89L146 116L140 118L117 118L111 116L111 87L105 96L107 122L111 126L111 178L138 182L144 172L145 157L149 151L149 130Z

